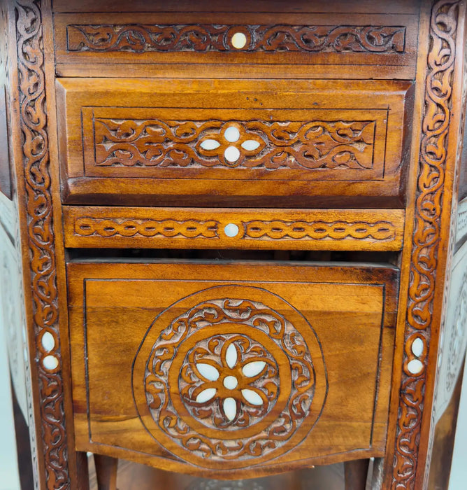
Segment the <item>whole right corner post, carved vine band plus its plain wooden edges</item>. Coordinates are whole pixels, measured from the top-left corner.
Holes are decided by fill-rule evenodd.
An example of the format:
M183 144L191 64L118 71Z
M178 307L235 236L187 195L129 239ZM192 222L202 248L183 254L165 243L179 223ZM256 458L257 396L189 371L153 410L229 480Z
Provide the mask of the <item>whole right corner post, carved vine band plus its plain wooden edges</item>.
M460 114L455 120L451 116L453 92L460 98L462 91L463 56L459 59L456 50L458 36L464 36L464 24L459 24L459 9L463 10L459 2L442 0L433 3L431 10L403 369L391 465L393 489L422 488L427 476L424 463L429 452L431 397L450 237L452 184L459 160ZM443 86L442 91L438 90L440 86ZM452 139L448 138L450 135ZM433 148L437 151L433 152ZM418 349L415 342L421 343L422 349ZM387 465L389 470L389 461Z

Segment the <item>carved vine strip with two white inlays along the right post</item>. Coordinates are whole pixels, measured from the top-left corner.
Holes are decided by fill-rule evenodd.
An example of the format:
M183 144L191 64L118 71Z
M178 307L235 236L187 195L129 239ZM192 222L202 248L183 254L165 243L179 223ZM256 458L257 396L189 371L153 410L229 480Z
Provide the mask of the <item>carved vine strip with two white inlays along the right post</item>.
M431 43L427 58L405 349L391 485L397 490L415 487L438 266L458 15L459 1L440 0L434 3L431 11Z

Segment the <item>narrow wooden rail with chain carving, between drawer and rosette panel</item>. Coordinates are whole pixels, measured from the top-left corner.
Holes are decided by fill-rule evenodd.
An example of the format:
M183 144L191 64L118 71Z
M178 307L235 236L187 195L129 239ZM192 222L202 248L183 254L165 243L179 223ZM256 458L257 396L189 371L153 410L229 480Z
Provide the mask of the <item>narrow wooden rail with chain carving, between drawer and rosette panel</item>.
M398 251L403 209L64 207L70 248Z

